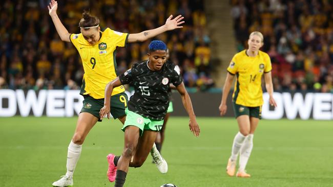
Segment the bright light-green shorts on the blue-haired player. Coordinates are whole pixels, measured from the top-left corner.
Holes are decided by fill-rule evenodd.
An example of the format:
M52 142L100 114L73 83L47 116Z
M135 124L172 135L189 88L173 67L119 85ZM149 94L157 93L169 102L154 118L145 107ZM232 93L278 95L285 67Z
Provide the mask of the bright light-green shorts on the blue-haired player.
M136 126L140 129L140 136L142 136L144 130L160 131L163 127L164 120L156 121L144 118L142 115L132 112L128 108L126 108L125 112L127 114L126 121L121 129L124 132L127 126Z

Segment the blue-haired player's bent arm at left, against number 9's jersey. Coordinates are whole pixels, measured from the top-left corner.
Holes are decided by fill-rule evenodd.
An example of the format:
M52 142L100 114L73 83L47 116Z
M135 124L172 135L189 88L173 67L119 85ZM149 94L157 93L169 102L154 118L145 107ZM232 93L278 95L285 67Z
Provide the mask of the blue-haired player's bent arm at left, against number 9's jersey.
M105 98L104 98L104 106L99 110L99 118L103 119L105 115L108 115L108 119L110 119L110 98L111 93L114 87L118 87L121 85L119 77L115 78L113 81L109 82L105 87Z

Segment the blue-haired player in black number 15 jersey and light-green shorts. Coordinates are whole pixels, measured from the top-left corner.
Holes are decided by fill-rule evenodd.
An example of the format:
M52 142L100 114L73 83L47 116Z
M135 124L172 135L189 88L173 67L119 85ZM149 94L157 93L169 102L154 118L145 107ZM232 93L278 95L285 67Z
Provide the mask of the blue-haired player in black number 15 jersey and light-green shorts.
M109 167L116 170L116 175L113 176L116 187L123 186L129 165L140 167L147 158L156 134L163 126L163 118L169 106L170 83L176 86L184 108L190 116L190 130L195 136L200 134L183 79L174 70L174 63L166 61L165 43L160 40L152 41L149 44L148 57L148 60L135 63L131 69L107 84L104 106L99 112L100 118L105 115L109 118L110 93L113 88L129 83L134 86L135 92L128 102L127 117L122 127L125 136L122 154L121 156L109 155L113 160L109 162Z

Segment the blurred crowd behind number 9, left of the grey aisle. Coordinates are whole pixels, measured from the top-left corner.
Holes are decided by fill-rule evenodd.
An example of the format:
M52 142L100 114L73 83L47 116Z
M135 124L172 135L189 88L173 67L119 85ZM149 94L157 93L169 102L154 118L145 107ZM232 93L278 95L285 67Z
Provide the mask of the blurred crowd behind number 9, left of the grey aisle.
M71 43L60 40L48 14L48 1L11 1L0 3L0 88L79 89L83 76L81 59ZM202 0L102 0L59 1L58 15L69 33L79 33L83 10L107 27L126 33L162 26L170 15L181 14L184 28L157 36L170 50L170 60L178 64L188 87L205 89L210 78L210 38ZM147 59L145 43L118 48L118 74L133 62Z

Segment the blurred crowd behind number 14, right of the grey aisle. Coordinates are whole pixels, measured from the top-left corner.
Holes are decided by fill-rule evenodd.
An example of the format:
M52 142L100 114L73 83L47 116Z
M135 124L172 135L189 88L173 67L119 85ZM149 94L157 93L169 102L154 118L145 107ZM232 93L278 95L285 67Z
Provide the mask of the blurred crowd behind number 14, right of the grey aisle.
M333 4L327 0L232 0L237 50L261 31L277 91L333 93Z

